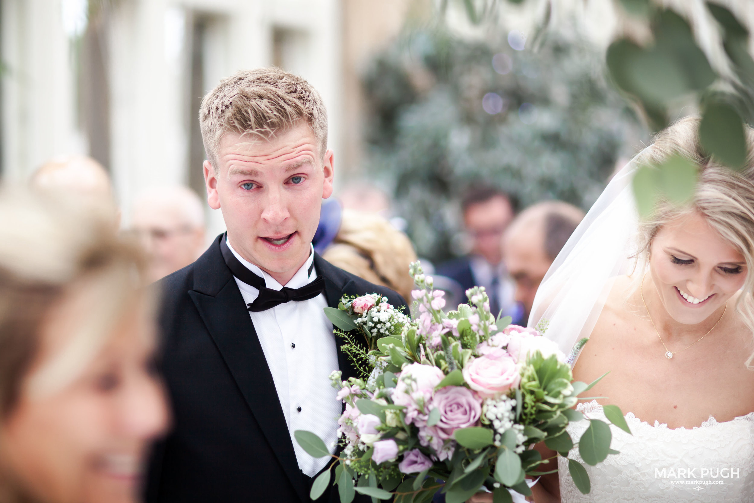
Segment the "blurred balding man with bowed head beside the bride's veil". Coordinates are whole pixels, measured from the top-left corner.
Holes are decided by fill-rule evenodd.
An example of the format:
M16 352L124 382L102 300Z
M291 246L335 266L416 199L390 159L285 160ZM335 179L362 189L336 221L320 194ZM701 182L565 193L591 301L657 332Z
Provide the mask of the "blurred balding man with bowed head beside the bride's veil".
M503 255L516 282L516 302L524 307L524 322L547 269L576 230L584 212L573 204L545 201L523 210L503 236Z

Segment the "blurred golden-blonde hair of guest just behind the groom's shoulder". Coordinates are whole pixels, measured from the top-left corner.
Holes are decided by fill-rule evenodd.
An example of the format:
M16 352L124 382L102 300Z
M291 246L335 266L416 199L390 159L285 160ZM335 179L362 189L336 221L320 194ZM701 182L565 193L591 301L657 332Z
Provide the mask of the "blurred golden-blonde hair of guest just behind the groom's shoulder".
M416 253L409 238L375 213L343 210L340 230L323 259L374 284L411 298L409 264Z

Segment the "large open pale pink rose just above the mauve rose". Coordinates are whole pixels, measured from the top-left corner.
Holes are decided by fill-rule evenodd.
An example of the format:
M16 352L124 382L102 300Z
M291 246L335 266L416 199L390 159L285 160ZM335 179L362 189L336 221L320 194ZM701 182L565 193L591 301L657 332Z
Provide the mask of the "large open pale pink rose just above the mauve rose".
M467 385L483 398L500 396L521 381L520 365L500 348L471 360L463 374Z

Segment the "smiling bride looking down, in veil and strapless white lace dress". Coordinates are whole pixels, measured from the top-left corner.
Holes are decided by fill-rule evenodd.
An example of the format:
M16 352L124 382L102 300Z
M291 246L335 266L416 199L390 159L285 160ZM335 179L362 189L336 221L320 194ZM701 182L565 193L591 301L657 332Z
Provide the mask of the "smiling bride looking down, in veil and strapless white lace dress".
M578 410L604 420L602 404L618 405L631 434L611 426L620 454L584 465L589 494L557 455L535 501L754 501L754 155L740 173L720 167L701 153L698 124L658 133L615 176L538 290L530 326L547 321L566 354L589 337L575 379L609 371L590 393L604 398ZM698 167L691 202L639 219L634 174L672 155ZM569 458L583 463L578 448Z

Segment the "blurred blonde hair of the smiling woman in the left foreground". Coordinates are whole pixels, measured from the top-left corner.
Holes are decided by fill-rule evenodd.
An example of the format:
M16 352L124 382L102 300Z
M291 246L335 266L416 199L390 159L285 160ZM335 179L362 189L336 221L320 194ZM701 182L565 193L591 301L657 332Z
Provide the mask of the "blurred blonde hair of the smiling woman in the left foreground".
M32 394L78 376L142 290L143 259L106 212L20 187L0 190L0 417L17 403L51 307L85 283L90 313L70 342L30 376Z

